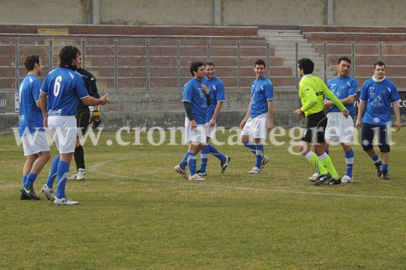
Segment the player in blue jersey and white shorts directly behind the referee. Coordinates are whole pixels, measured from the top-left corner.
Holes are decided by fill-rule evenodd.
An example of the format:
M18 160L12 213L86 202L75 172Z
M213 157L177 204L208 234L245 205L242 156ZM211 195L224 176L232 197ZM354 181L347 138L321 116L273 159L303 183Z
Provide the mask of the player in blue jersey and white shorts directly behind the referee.
M352 183L352 167L354 164L354 151L351 147L354 134L354 101L357 97L358 83L348 75L351 69L351 60L347 57L339 58L337 63L337 77L328 82L327 87L346 106L350 112L348 118L344 117L341 110L329 99L324 100L324 110L327 112L327 126L324 132L326 140L325 149L328 154L328 147L331 141L339 141L344 150L346 158L346 175L341 178L341 183ZM316 181L318 173L315 173L309 180Z

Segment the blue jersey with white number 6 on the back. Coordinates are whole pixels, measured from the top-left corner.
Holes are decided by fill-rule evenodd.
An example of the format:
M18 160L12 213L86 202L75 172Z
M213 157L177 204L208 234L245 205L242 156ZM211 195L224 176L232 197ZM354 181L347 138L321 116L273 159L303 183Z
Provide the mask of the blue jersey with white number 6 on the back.
M89 97L80 74L66 67L49 72L41 92L48 95L48 115L76 115L79 99Z

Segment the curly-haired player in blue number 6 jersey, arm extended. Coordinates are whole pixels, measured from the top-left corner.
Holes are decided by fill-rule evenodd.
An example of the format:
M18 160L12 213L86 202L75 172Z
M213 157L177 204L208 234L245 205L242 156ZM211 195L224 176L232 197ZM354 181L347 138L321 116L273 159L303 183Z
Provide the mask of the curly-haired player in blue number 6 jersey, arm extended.
M59 151L59 155L52 162L47 183L41 191L56 205L78 204L78 201L67 197L65 185L76 145L75 116L79 99L87 106L104 105L109 102L109 94L101 99L89 96L82 77L76 72L79 57L78 48L70 45L63 47L59 53L59 67L50 71L45 77L39 97L44 126L49 128ZM58 188L54 196L52 186L56 176L58 176Z

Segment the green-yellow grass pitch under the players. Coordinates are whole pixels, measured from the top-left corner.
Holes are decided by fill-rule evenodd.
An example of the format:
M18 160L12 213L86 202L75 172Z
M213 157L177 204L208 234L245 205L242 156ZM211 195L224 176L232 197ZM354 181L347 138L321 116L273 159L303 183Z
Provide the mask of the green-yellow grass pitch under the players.
M173 171L187 146L141 135L144 145L117 145L115 132L87 142L87 179L67 183L80 204L55 206L40 192L51 162L34 184L41 200L19 200L23 149L1 134L0 269L405 269L405 130L393 134L390 180L357 144L354 183L341 186L313 186L288 136L265 146L260 175L248 174L245 147L218 147L229 168L221 175L211 156L207 182L196 183ZM342 176L341 147L330 156Z

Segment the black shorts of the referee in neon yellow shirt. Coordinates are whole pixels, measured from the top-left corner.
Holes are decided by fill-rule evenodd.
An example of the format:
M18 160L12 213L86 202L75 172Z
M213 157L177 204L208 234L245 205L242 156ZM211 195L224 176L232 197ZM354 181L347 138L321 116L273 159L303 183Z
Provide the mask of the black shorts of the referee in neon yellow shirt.
M307 116L306 130L302 139L312 145L324 143L324 130L326 130L327 116L324 111Z

